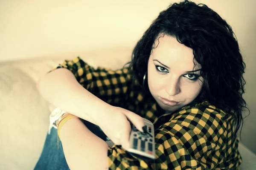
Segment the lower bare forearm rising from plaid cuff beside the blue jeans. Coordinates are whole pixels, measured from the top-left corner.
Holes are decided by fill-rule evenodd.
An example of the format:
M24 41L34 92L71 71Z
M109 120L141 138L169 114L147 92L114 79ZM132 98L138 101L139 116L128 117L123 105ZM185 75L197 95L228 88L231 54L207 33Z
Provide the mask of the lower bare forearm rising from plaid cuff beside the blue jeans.
M60 136L70 170L108 169L108 144L79 119L68 120L61 128Z

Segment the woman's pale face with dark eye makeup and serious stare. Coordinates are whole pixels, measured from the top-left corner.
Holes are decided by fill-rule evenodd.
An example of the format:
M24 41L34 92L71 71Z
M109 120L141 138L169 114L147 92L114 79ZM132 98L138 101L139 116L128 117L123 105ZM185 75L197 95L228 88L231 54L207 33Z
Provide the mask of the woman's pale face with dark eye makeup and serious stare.
M192 49L175 37L160 36L155 47L148 60L148 87L162 109L176 111L200 93L201 65L194 65Z

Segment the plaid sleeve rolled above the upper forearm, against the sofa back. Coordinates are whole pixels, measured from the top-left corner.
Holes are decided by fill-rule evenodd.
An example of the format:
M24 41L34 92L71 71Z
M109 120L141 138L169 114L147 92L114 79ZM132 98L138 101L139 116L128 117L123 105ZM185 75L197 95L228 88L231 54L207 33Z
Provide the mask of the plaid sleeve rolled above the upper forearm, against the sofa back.
M131 73L128 68L111 70L108 68L93 68L80 57L65 60L58 67L70 70L76 80L95 96L113 105L127 98L128 88L131 86ZM51 72L49 71L49 72Z

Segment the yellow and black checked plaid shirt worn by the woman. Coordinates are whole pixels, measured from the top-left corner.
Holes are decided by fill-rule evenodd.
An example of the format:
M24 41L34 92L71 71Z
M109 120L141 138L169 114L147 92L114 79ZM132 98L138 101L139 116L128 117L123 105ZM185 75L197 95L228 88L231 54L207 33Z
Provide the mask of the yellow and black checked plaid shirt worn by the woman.
M132 156L120 145L108 148L111 170L210 170L239 169L241 156L235 120L208 102L186 105L164 113L143 91L128 68L92 68L80 57L66 60L67 68L92 94L111 105L125 108L154 123L155 160Z

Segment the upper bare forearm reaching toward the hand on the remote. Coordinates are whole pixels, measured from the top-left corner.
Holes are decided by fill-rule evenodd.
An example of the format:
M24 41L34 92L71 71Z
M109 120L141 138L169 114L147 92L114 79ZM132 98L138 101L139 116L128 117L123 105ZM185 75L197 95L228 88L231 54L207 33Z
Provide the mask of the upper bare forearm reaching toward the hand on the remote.
M46 74L37 87L40 94L55 107L96 125L95 118L101 117L100 114L110 106L87 91L65 68Z

